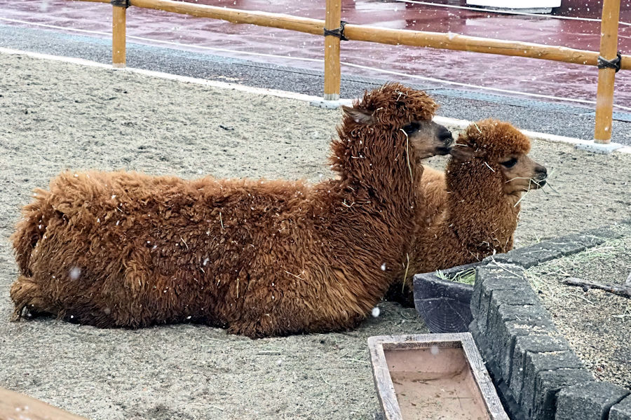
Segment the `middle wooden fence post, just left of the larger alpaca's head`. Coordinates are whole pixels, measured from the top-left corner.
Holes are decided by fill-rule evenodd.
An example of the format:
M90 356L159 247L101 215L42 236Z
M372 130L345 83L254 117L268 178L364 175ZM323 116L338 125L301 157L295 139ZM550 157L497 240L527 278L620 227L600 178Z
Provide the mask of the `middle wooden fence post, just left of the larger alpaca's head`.
M325 29L333 31L341 27L341 0L327 0L327 16ZM325 36L325 101L339 100L340 65L339 43L341 38Z

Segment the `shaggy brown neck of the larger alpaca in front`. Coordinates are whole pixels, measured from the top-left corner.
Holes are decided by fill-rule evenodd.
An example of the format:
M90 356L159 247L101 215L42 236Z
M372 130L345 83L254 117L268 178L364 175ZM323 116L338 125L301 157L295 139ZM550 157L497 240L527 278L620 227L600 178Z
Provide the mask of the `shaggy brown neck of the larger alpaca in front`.
M339 129L339 140L332 144L332 169L340 179L315 190L337 191L322 196L323 201L336 200L335 226L327 233L335 230L336 237L348 239L347 249L337 251L340 254L370 255L372 274L362 276L357 293L379 298L393 281L393 270L409 265L417 223L416 190L423 169L414 165L416 156L403 132L344 127L348 125ZM330 188L322 190L324 185ZM361 251L353 250L355 245Z

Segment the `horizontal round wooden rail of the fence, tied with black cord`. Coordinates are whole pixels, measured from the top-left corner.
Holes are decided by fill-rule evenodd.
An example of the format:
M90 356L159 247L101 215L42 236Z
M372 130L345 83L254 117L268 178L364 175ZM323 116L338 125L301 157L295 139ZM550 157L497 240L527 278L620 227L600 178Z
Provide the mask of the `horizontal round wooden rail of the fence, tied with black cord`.
M86 1L86 0L82 0ZM103 1L107 0L88 0ZM213 18L232 23L245 23L307 34L323 35L325 21L311 18L297 18L280 13L267 13L255 10L238 10L203 4L185 3L172 0L130 0L132 6L165 10L172 13ZM595 66L598 52L576 50L574 48L525 43L520 41L502 41L477 36L442 34L440 32L409 31L407 29L388 29L366 25L346 25L346 36L353 41L367 41L392 45L411 45L416 47L442 48L446 50L484 52L496 55L511 55L548 59L557 62L586 64ZM631 55L623 55L622 69L631 70Z

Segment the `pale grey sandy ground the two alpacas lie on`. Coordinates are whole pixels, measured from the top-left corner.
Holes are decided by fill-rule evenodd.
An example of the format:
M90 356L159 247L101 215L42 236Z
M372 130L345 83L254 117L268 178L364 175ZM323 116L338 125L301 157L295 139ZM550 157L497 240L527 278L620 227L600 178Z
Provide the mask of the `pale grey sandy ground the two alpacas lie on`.
M426 332L398 304L381 303L379 317L351 332L255 341L203 325L133 331L8 321L17 275L8 236L32 189L58 172L315 182L330 175L339 111L16 55L0 55L0 67L1 387L94 420L374 417L367 337ZM629 217L631 155L545 142L532 155L557 192L524 198L517 246ZM628 248L614 255L626 261L620 275L628 272ZM628 328L629 318L620 319Z

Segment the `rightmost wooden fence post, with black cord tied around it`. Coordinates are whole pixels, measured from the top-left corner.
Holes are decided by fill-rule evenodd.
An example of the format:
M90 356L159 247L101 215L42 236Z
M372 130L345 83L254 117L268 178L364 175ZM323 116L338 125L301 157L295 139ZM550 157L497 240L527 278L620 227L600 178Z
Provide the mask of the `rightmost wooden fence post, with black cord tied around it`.
M604 0L602 3L602 23L600 34L600 56L611 60L618 52L618 20L620 20L620 0ZM611 120L613 119L613 85L616 69L599 69L596 94L596 127L594 141L611 142Z

